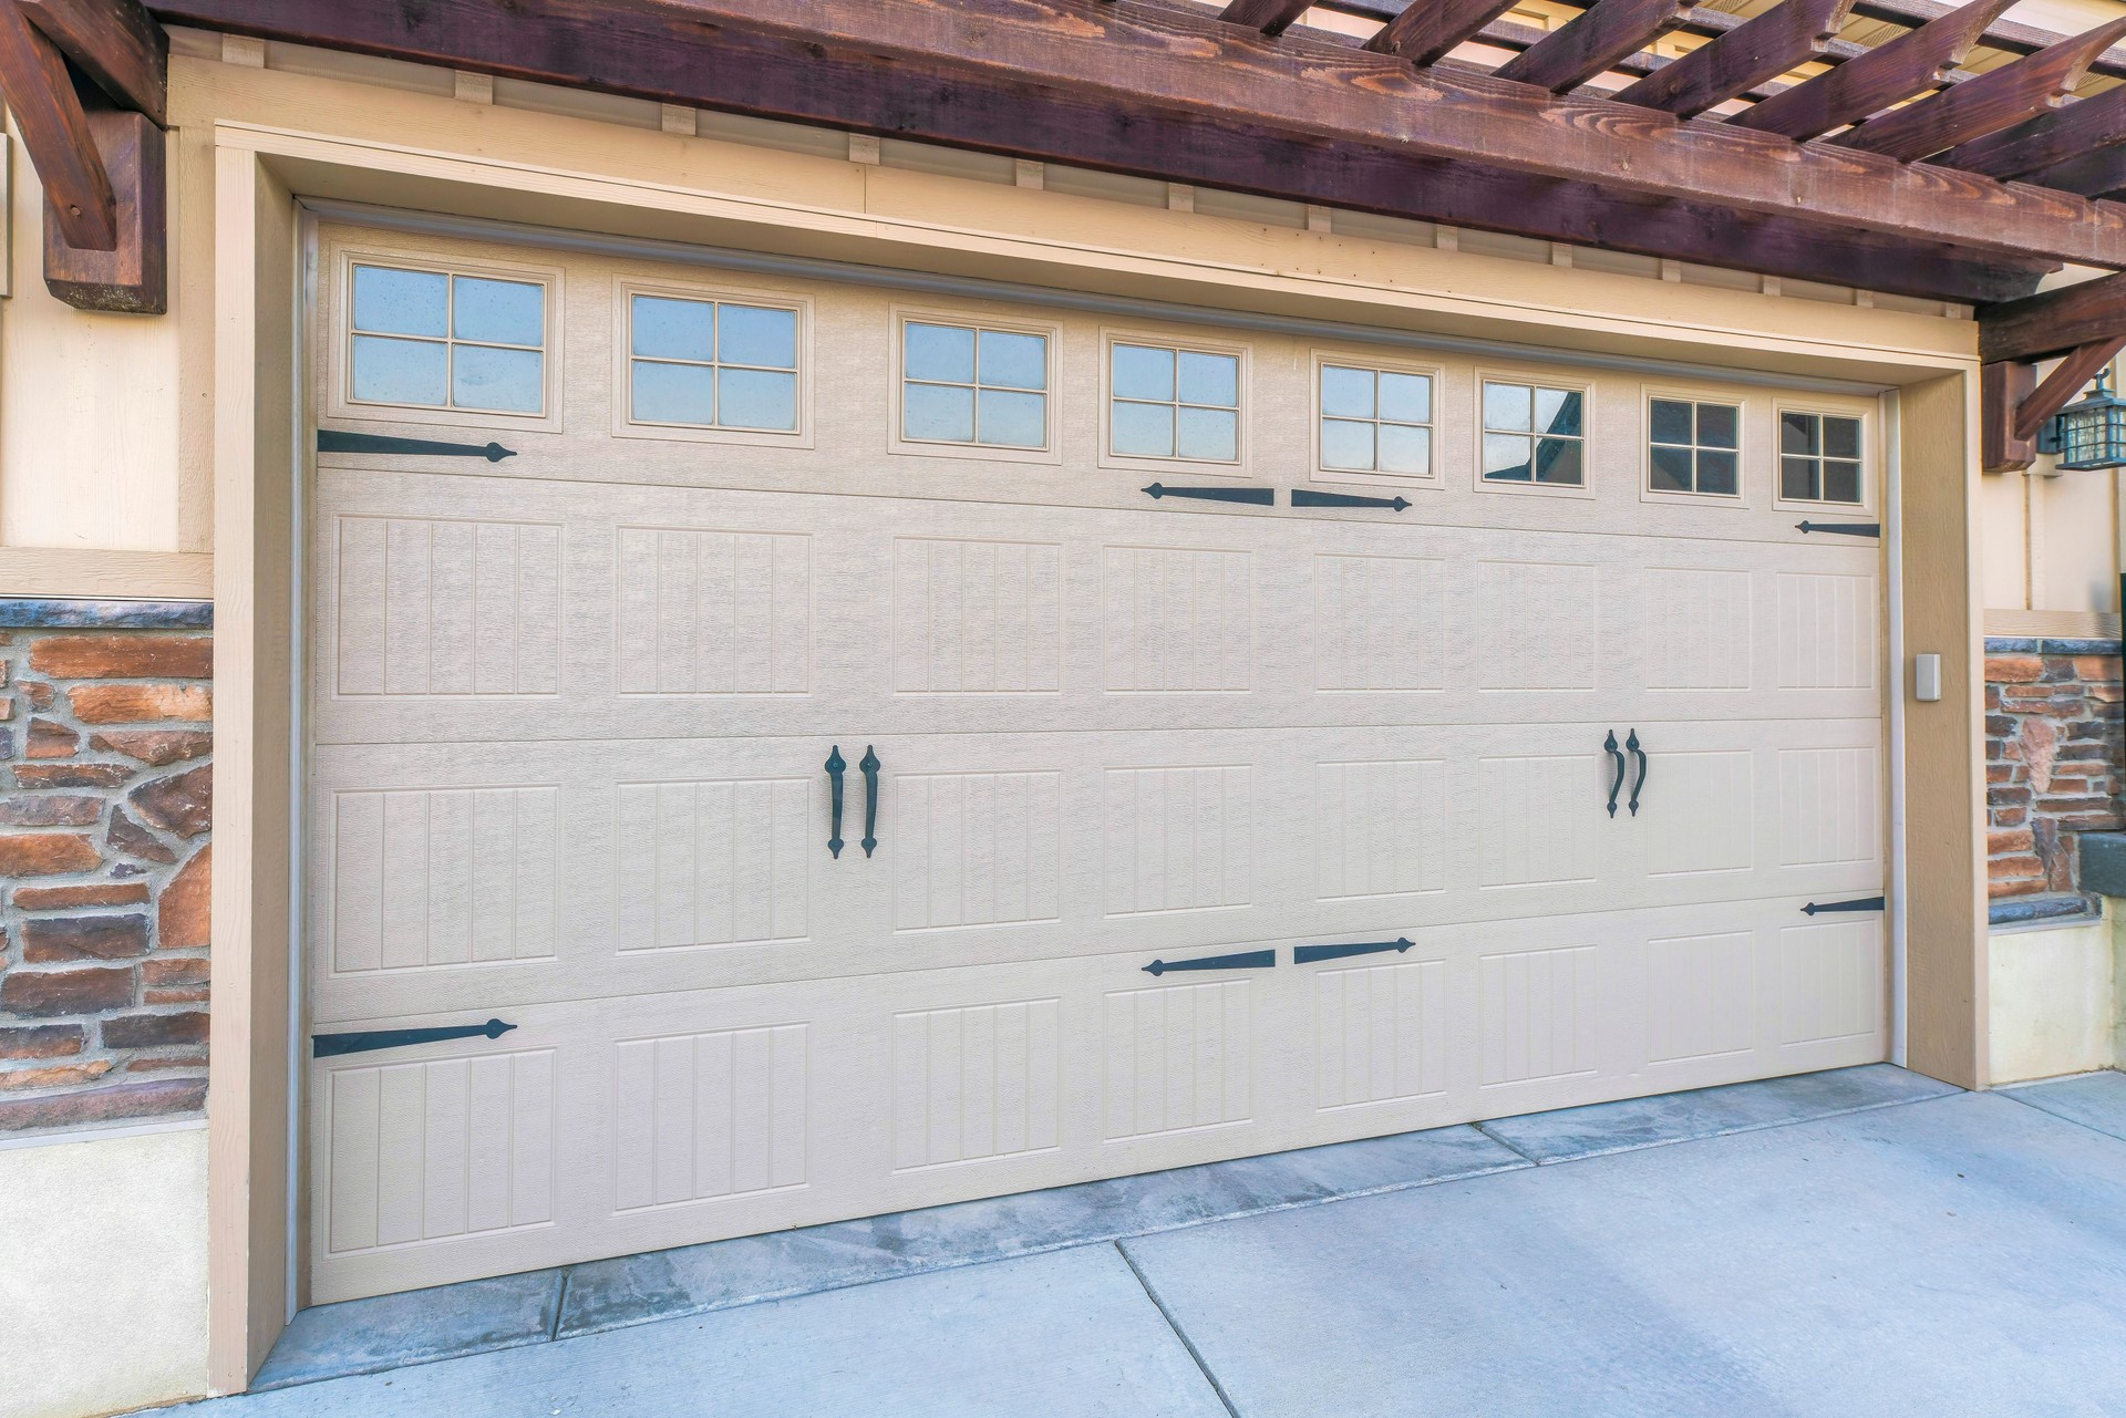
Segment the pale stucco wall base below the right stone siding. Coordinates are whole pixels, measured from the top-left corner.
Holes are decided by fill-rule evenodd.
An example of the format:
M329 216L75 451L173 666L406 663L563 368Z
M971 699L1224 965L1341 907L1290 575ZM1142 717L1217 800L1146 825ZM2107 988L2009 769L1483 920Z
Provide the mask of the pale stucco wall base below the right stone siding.
M2100 921L1990 940L1994 1082L2088 1074L2120 1063L2117 901Z

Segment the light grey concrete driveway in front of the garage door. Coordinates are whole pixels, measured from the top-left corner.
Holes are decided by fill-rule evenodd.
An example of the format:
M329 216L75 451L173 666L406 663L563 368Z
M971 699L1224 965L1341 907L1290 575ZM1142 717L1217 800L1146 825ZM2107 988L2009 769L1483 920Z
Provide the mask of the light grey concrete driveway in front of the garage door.
M376 1373L319 1378L434 1320L404 1297L306 1312L266 1375L289 1386L187 1418L2126 1414L2126 1076L1971 1095L1877 1065L1293 1157L1320 1191L1337 1165L1422 1171L1435 1142L1456 1163L1401 1186L1278 1199L1259 1167L1267 1201L1227 1220L1146 1201L1201 1205L1210 1169L1078 1197L1076 1244L991 1210L850 1222L774 1250L799 1256L778 1276L740 1244L665 1252L665 1288L648 1259L576 1267L578 1314L621 1327L563 1324L561 1276L508 1348ZM1082 1231L1095 1212L1118 1239ZM884 1233L880 1254L961 1252L865 1271ZM1037 1254L986 1259L1014 1244ZM825 1280L746 1303L740 1271ZM723 1299L687 1290L710 1280ZM699 1312L629 1322L648 1293Z

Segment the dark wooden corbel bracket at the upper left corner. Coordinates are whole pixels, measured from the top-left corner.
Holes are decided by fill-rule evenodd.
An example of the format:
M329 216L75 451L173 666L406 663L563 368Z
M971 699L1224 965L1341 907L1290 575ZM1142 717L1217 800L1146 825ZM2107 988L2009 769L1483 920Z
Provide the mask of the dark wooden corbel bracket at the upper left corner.
M170 43L138 0L0 0L0 89L45 183L45 285L168 308Z

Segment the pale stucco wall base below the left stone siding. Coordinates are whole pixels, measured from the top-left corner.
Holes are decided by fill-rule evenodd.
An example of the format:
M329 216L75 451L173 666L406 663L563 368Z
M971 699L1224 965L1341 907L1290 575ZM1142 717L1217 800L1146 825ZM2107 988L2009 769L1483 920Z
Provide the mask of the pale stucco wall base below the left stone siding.
M206 1392L206 1129L0 1146L0 1418Z

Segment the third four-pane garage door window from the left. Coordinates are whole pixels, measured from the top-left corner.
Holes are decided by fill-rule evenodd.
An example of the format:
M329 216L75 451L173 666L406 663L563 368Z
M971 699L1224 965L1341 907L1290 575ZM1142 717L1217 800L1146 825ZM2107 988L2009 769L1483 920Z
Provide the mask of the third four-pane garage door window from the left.
M1048 446L1048 336L901 321L901 440Z

